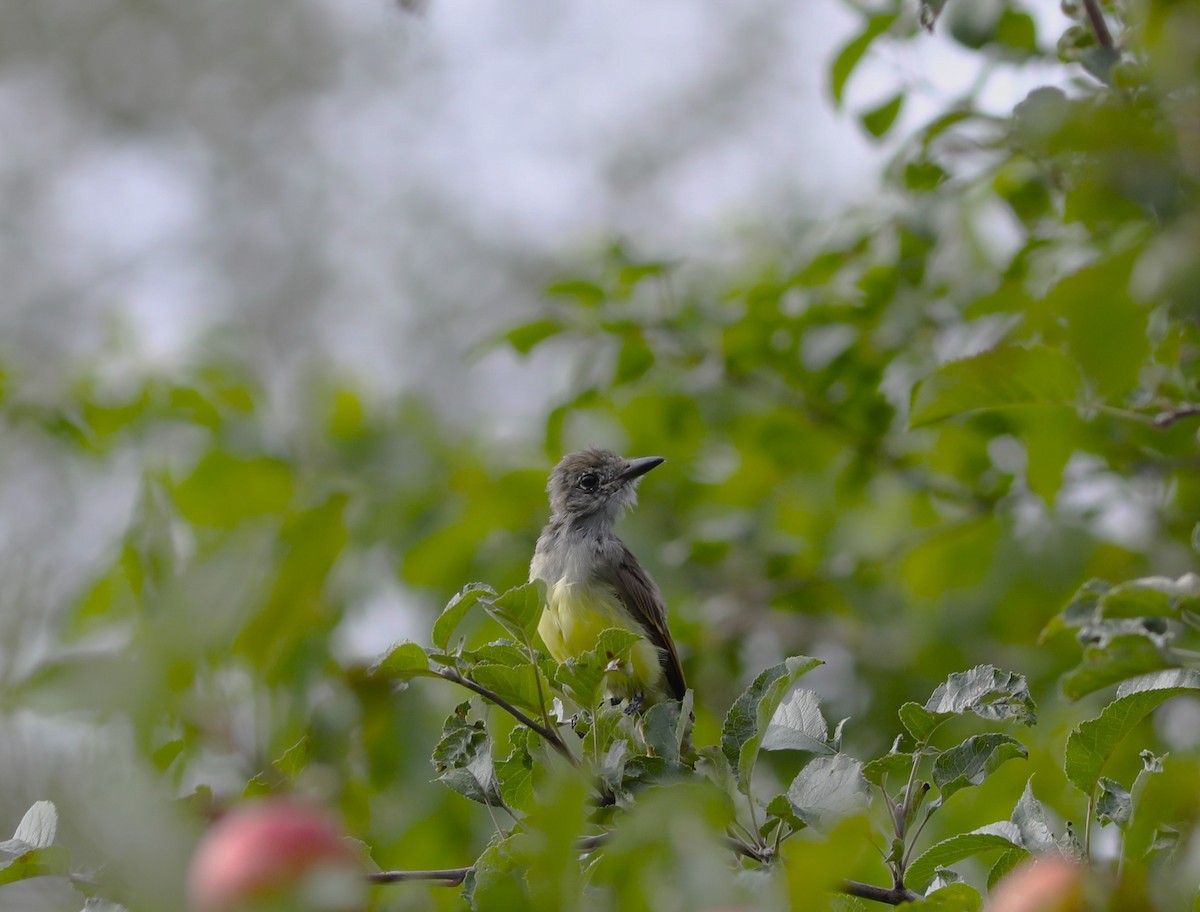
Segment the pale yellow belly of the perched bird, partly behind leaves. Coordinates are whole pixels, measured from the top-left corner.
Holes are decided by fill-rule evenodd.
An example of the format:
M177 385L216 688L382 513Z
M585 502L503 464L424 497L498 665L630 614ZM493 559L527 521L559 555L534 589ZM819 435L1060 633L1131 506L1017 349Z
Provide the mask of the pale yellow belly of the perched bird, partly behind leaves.
M646 632L606 587L565 582L547 587L538 632L554 661L565 662L594 649L608 628ZM666 697L664 678L659 650L640 640L630 649L629 661L606 676L605 695L628 700L641 694L646 703L656 703Z

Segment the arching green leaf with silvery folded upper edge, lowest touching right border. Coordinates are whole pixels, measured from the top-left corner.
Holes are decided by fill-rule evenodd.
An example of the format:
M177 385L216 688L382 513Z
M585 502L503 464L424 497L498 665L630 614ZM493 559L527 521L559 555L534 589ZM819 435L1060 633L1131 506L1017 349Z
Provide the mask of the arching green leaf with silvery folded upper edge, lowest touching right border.
M1075 728L1067 738L1063 769L1070 784L1091 794L1109 757L1138 724L1168 700L1200 692L1200 672L1163 671L1122 684L1117 698L1096 719Z

